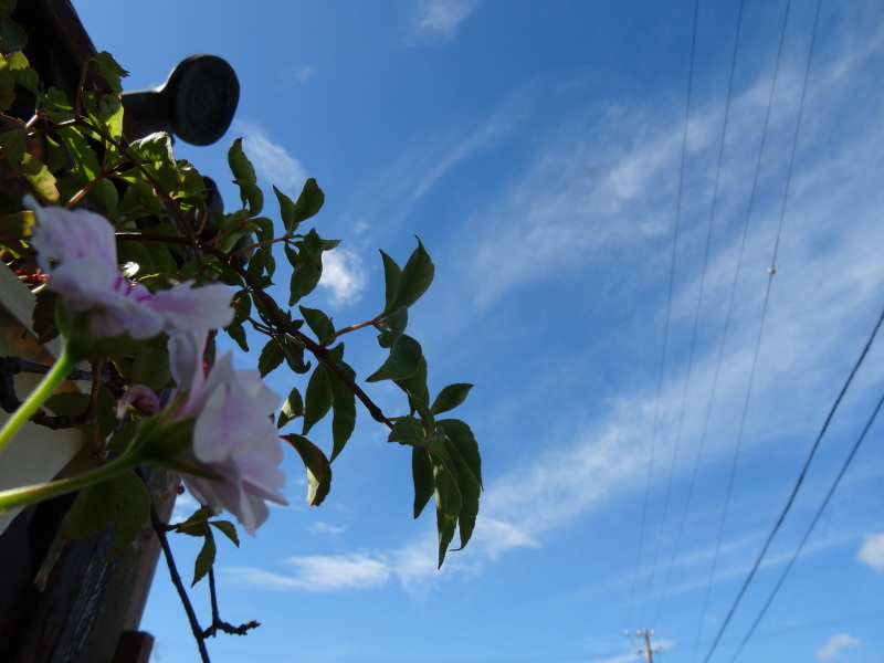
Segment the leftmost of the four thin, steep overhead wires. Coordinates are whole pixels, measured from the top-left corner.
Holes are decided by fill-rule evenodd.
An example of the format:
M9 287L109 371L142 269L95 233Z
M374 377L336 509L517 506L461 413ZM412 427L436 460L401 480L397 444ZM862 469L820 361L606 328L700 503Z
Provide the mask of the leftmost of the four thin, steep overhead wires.
M681 158L681 166L678 170L678 194L676 198L675 203L675 228L673 232L673 240L672 240L672 264L670 266L670 284L669 284L669 295L666 297L666 318L663 326L663 350L662 356L660 359L660 376L657 378L657 386L656 386L656 404L654 407L654 423L652 429L651 435L651 453L649 456L648 462L648 478L645 482L645 490L644 490L644 507L642 509L642 518L640 525L640 534L639 534L639 546L638 552L635 558L635 573L632 578L632 589L630 591L629 598L629 609L627 612L627 630L629 630L630 620L632 619L632 609L634 607L635 600L635 587L638 586L639 580L639 568L641 566L641 555L642 549L644 548L644 535L646 530L648 524L648 504L650 502L651 495L651 477L653 474L654 467L654 446L656 444L656 434L657 434L657 425L660 421L660 401L662 398L663 392L663 375L665 372L665 364L666 364L666 347L669 345L669 332L670 332L670 319L672 314L672 293L674 288L674 280L675 280L675 256L677 253L678 246L678 227L681 224L682 218L682 193L684 190L684 166L687 155L687 126L691 119L691 97L692 91L694 85L694 60L696 54L696 44L697 44L697 18L699 15L699 0L694 0L694 22L691 35L691 60L687 73L687 95L685 98L685 107L684 107L684 131L682 135L682 158ZM644 610L642 609L642 612Z

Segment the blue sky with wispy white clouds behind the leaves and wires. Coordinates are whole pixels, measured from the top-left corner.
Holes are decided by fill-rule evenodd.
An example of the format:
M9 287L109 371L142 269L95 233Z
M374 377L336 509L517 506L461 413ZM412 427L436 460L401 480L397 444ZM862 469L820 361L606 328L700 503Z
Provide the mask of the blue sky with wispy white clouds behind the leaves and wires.
M802 106L815 3L792 3L764 133L786 4L745 1L732 77L738 4L701 2L684 143L688 1L74 1L129 90L192 53L234 66L230 133L177 151L225 180L243 136L267 189L317 178L317 230L345 243L313 305L339 326L381 307L377 249L401 262L419 235L431 389L476 385L470 546L434 569L409 454L364 414L325 504L304 504L292 454L293 506L222 547L222 617L262 627L210 642L213 661L641 660L625 629L654 629L655 660L706 659L884 292L884 10L822 3ZM370 334L348 355L360 375L381 360ZM794 554L882 367L876 343L711 661L732 660ZM739 660L884 661L882 425ZM175 543L187 569L192 541ZM151 661L196 660L162 567L143 628Z

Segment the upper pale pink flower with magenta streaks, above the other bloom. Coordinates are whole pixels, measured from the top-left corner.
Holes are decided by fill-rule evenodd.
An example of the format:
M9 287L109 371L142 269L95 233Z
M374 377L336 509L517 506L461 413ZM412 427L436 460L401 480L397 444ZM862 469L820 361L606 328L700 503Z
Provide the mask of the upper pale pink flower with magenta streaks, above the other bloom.
M151 338L160 332L217 329L233 319L230 291L222 284L186 283L151 293L130 283L117 266L114 228L104 217L41 207L30 196L24 203L36 214L31 245L38 265L50 274L46 288L61 295L70 313L92 313L94 337Z

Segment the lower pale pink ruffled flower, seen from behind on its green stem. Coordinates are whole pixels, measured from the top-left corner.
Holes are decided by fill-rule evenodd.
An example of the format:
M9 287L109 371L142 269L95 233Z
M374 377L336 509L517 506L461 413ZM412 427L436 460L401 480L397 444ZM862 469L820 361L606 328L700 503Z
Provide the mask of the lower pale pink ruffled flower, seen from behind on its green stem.
M229 511L253 535L270 515L265 502L288 504L280 493L283 448L271 420L281 400L257 371L234 370L230 352L206 376L206 339L201 333L169 340L176 396L185 394L178 415L197 419L192 457L185 464L213 475L183 474L183 481L200 503Z

